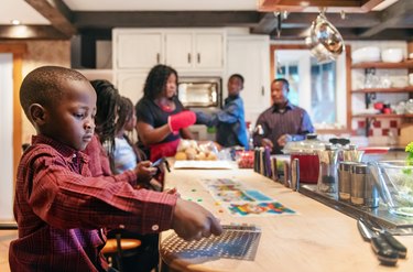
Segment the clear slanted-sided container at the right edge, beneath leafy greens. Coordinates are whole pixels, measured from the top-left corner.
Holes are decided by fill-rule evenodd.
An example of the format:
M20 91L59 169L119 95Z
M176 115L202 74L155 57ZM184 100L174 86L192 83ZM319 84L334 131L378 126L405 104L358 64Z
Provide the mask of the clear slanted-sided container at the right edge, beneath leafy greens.
M379 194L390 213L413 217L413 164L407 161L370 162Z

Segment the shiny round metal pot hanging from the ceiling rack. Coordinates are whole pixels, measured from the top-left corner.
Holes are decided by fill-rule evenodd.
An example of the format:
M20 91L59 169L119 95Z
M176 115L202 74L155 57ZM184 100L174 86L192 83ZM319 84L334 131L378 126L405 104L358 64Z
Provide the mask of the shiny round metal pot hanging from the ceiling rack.
M344 40L338 30L326 19L322 11L311 26L305 40L311 53L318 63L335 61L344 51Z

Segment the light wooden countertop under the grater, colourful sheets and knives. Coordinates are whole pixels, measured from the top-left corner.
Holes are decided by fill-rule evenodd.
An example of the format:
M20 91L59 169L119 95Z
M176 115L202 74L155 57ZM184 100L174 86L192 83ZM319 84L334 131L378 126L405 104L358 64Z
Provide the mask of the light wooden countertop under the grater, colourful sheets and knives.
M232 178L261 191L300 215L271 217L233 217L217 206L200 178ZM253 224L261 228L254 261L210 259L202 262L162 254L170 269L178 271L413 271L413 236L398 237L407 247L407 258L395 268L380 265L369 242L362 240L356 220L312 198L274 183L252 170L172 170L166 187L176 187L184 199L209 209L222 224ZM219 211L221 209L221 211ZM224 210L224 213L222 213Z

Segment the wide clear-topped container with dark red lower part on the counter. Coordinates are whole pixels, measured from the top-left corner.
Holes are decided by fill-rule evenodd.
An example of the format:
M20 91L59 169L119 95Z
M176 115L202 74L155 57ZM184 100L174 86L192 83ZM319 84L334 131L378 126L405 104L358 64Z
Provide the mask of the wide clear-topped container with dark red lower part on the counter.
M287 142L284 154L291 155L291 161L300 161L300 183L317 184L319 160L317 151L325 149L325 142L317 139L317 134L307 134L304 141Z

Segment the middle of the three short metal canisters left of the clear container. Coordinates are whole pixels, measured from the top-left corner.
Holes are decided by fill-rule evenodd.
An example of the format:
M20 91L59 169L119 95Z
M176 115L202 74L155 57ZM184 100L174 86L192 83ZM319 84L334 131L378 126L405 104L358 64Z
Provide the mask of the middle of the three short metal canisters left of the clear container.
M350 199L355 205L365 204L367 164L356 163L351 165L351 194Z

